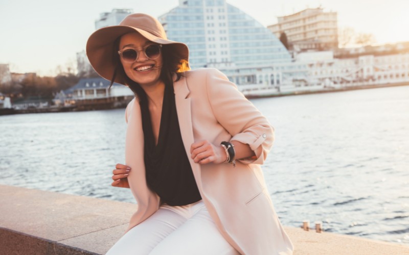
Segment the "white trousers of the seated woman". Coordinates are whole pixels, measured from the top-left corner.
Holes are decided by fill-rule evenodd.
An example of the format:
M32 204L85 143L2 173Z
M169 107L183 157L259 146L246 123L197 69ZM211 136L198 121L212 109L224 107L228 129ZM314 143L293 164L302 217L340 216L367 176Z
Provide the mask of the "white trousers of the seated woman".
M129 230L107 255L239 255L217 230L202 200L163 205Z

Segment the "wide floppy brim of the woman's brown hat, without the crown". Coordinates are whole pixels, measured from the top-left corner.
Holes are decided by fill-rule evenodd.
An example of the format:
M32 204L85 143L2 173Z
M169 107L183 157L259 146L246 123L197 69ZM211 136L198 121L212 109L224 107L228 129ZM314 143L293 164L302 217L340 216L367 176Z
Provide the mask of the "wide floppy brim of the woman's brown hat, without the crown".
M179 56L180 60L189 59L189 48L184 43L163 39L145 30L127 25L112 25L95 31L89 36L86 43L86 55L89 63L102 78L111 81L116 68L112 56L112 54L114 54L113 44L115 40L122 35L132 32L138 32L147 40L154 43L172 45L172 50ZM125 77L117 75L113 82L125 85Z

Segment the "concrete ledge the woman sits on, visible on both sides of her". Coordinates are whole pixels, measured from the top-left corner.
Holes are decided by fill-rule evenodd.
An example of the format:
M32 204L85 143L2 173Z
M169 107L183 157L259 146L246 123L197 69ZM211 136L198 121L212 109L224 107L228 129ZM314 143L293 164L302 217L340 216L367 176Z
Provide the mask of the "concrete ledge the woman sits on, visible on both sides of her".
M136 209L125 203L0 185L0 253L104 254ZM387 242L286 227L294 254L409 254Z

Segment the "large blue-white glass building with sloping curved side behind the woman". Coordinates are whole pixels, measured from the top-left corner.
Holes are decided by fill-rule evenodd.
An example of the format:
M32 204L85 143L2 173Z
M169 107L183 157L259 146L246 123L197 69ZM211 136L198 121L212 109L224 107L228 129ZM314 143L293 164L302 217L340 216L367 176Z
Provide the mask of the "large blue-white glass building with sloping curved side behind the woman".
M225 0L179 0L159 20L170 40L189 46L192 68L232 70L291 62L270 30Z

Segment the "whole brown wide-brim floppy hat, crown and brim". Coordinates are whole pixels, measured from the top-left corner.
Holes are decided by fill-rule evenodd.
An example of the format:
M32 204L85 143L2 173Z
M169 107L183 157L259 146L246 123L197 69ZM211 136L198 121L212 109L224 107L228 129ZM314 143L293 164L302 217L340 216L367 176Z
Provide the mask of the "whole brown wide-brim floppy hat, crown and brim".
M106 80L111 81L116 68L112 55L117 51L113 49L115 40L131 32L138 32L147 40L158 44L171 45L172 52L179 57L179 60L189 59L188 46L181 42L168 40L161 22L156 18L143 13L130 14L119 25L98 29L89 36L86 43L89 63ZM125 77L117 73L113 82L125 84Z

